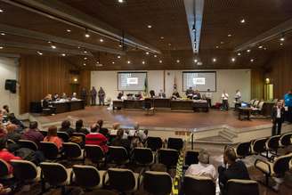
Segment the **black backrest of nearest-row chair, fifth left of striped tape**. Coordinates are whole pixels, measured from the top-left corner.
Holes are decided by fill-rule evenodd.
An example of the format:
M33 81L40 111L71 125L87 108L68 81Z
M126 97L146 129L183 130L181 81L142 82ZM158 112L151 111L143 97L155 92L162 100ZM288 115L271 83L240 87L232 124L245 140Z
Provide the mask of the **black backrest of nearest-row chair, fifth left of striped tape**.
M28 160L13 159L11 161L13 175L22 182L34 181L37 178L37 166Z

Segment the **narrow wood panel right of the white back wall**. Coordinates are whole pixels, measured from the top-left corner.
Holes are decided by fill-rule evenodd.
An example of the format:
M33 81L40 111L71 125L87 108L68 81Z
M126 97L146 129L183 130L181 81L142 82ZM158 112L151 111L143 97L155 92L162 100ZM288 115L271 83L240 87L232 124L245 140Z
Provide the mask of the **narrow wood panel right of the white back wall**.
M251 99L264 99L264 70L251 70Z

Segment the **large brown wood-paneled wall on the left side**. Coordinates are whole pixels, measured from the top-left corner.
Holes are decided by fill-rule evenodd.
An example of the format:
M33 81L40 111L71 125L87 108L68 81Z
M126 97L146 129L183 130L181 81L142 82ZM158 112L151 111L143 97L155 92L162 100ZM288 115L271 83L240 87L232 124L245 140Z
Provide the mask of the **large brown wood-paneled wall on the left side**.
M48 93L79 93L90 87L90 72L80 72L79 85L72 85L69 70L77 69L62 57L26 55L20 57L20 113L29 111L29 103L42 100Z

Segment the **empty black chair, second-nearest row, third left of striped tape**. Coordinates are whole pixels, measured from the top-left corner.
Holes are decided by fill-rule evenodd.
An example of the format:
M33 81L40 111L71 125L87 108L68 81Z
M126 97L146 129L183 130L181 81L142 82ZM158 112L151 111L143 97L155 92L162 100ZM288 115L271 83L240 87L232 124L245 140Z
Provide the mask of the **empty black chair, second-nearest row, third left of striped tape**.
M116 165L125 165L129 162L129 156L124 147L121 146L110 146L107 163L112 163Z

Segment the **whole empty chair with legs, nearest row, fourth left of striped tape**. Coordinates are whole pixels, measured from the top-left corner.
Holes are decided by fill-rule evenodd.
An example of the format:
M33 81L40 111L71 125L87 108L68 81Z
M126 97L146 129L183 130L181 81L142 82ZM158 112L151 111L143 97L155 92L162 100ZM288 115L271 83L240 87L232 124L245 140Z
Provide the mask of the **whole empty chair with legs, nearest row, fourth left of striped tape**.
M43 162L40 167L42 169L42 191L46 190L45 183L49 183L53 187L61 187L61 193L65 194L65 185L69 185L70 170L59 163Z

